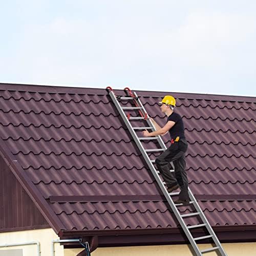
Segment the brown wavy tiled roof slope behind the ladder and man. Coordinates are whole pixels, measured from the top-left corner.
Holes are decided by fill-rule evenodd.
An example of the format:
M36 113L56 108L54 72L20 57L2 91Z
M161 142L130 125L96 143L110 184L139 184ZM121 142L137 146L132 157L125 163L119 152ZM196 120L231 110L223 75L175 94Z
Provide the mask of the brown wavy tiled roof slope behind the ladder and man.
M137 93L164 125L156 102L166 93ZM256 98L171 94L189 142L189 187L210 224L256 225ZM1 151L57 233L177 227L104 89L2 83L0 104Z

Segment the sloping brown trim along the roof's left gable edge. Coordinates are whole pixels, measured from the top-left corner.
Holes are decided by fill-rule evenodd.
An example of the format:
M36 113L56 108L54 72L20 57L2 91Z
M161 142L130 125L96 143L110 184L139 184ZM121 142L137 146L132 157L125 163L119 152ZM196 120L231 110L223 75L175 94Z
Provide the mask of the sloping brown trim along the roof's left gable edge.
M56 234L61 229L65 229L60 220L56 217L54 211L50 208L46 200L41 196L38 189L29 179L23 167L20 165L14 155L11 153L5 141L0 137L0 155L3 157L11 172L14 174L18 182L22 185L29 197L45 217Z

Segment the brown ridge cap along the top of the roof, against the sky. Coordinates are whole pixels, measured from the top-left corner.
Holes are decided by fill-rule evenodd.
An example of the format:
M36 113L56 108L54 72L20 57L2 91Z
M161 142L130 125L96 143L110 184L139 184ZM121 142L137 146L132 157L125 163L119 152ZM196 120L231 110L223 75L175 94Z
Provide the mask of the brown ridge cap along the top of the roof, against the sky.
M18 87L18 88L17 88ZM29 90L28 90L29 87ZM84 92L84 90L87 92ZM69 87L69 86L47 86L36 84L18 84L18 83L0 83L0 90L20 91L20 92L40 92L40 93L69 93L69 94L92 94L92 95L108 95L103 88L89 87ZM240 101L240 102L256 102L256 96L238 96L238 95L220 95L220 94L200 94L200 93L183 93L183 92L160 92L160 91L142 91L139 96L144 97L163 97L165 94L172 94L176 98L186 99L204 99L204 100L222 100L222 101ZM114 90L116 93L123 93L123 90Z

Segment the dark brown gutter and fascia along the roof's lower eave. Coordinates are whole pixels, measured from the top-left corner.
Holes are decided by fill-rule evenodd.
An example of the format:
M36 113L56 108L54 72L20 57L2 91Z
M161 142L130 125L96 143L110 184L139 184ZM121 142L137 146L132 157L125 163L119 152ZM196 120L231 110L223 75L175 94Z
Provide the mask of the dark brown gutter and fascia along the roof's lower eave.
M247 227L248 226L248 227ZM218 239L222 243L239 243L239 242L255 242L256 241L256 225L245 226L215 226L214 230ZM107 231L107 230L105 230ZM109 230L110 231L110 230ZM124 231L124 230L122 230ZM84 241L90 240L92 237L97 237L98 247L113 247L113 246L147 246L147 245L170 245L170 244L189 244L185 233L179 228L162 228L152 230L119 230L106 234L102 230L98 230L98 234L88 233L73 233L63 231L59 233L60 239L83 238ZM194 237L205 236L205 232L197 230L193 232ZM211 243L210 240L204 240L199 243ZM72 248L77 248L72 244Z

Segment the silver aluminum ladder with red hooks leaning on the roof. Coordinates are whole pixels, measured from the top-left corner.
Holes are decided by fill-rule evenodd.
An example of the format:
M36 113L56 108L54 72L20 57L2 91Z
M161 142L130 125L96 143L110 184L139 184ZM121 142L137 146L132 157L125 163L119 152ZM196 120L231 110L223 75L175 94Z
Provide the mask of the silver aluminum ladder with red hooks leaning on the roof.
M169 206L172 208L176 218L178 219L179 223L181 224L181 227L183 228L190 244L192 245L193 249L195 250L195 253L197 255L202 255L202 253L204 252L209 252L209 251L219 251L219 253L224 256L227 255L223 249L223 247L221 246L221 243L219 241L219 239L217 238L214 230L212 230L212 227L210 226L209 222L207 221L206 217L203 214L202 209L200 208L196 198L194 197L194 195L191 193L190 189L188 188L188 194L189 194L189 204L193 204L194 207L196 208L197 212L191 213L191 214L183 214L181 215L177 206L182 205L182 204L175 204L172 196L178 195L179 193L168 193L166 187L165 187L165 182L161 180L160 178L160 173L158 170L156 170L156 168L154 167L154 163L155 160L151 160L150 157L148 157L147 152L159 152L159 151L164 151L166 150L166 146L163 143L163 140L160 136L156 136L156 137L142 137L139 138L136 134L135 131L138 130L146 130L146 129L151 129L152 131L156 131L154 124L152 123L152 121L148 118L147 112L144 108L144 106L142 105L141 101L139 100L139 97L137 96L137 94L135 92L132 92L129 88L124 88L124 92L125 92L125 96L116 96L113 89L111 87L107 87L106 90L109 92L109 95L111 96L111 99L113 100L119 114L121 115L123 121L125 122L127 128L129 129L134 141L136 142L137 146L139 147L139 150L141 152L141 154L143 155L148 167L150 167L152 174L154 175L160 189L162 190L163 195L165 196ZM120 105L119 101L126 101L126 100L132 100L133 103L135 104L135 107L133 106L129 106L129 107L123 107ZM124 113L124 111L126 110L138 110L140 117L132 117L130 116L130 114L128 116L126 116L126 114ZM145 120L148 124L148 127L133 127L130 120ZM152 150L145 150L144 147L142 146L141 140L157 140L158 143L160 144L161 148L157 148L157 149L152 149ZM170 172L174 172L174 165L173 163L172 167L173 169L170 170ZM198 224L198 225L194 225L194 226L187 226L185 224L185 221L183 220L183 218L186 217L190 217L190 216L198 216L201 217L201 220L203 222L203 224ZM198 237L198 238L194 238L190 232L190 229L193 228L197 228L197 227L206 227L209 235L208 236L204 236L204 237ZM203 239L208 239L211 238L212 240L214 240L215 243L215 247L211 247L208 249L204 249L204 250L200 250L196 241L198 240L203 240Z

